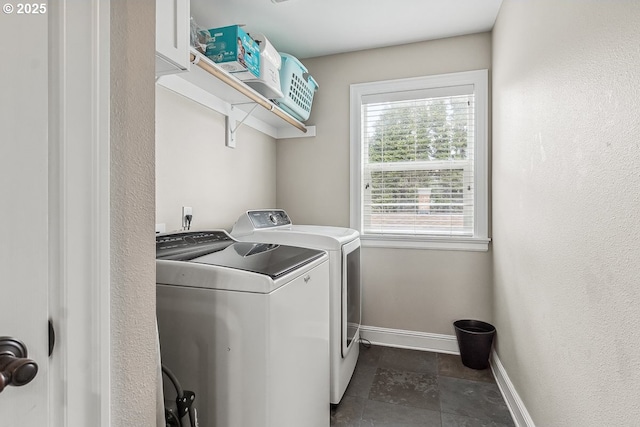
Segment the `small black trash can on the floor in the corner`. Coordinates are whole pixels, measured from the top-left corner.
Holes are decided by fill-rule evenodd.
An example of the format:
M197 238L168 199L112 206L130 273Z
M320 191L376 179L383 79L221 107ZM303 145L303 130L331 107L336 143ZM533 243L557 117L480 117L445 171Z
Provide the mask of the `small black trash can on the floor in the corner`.
M456 320L453 322L464 366L472 369L487 369L491 344L496 328L480 320Z

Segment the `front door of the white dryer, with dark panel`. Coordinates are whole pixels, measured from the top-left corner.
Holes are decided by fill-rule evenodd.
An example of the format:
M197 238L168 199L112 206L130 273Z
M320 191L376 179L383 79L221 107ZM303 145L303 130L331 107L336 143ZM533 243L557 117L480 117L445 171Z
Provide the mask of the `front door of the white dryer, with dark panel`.
M342 246L342 357L360 338L360 239Z

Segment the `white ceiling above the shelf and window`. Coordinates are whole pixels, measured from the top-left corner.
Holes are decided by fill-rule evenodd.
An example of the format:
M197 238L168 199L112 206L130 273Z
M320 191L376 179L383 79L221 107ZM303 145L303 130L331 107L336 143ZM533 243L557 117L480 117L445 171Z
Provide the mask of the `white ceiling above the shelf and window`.
M280 0L276 0L280 1ZM489 31L502 0L191 0L205 28L245 24L300 59Z

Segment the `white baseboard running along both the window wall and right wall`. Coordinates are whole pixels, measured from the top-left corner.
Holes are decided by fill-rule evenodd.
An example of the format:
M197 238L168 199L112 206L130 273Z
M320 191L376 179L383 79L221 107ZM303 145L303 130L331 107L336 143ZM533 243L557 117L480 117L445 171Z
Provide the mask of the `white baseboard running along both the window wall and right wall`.
M405 331L401 329L360 326L360 337L371 344L386 347L407 348L411 350L433 351L436 353L460 354L455 335L430 334L426 332ZM491 371L498 388L504 397L516 427L535 427L524 402L520 399L513 383L502 366L495 350L491 351Z

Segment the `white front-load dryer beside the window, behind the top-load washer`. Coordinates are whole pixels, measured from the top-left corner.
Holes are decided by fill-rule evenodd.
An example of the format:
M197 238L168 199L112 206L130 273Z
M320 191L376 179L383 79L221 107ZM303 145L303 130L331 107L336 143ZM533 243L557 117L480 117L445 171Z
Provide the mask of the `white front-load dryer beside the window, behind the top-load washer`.
M358 361L361 322L360 234L343 227L294 225L284 210L245 212L231 235L329 253L330 400L342 399Z

